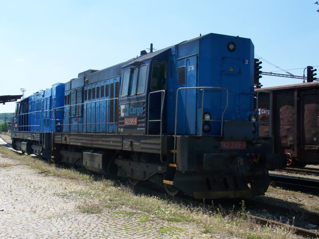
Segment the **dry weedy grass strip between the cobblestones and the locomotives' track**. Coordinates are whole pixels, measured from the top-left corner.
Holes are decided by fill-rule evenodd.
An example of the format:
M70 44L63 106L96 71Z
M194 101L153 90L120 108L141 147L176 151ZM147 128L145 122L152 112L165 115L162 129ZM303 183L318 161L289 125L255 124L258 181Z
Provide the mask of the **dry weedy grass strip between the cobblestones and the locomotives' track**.
M51 175L85 181L87 183L86 190L76 192L81 196L77 206L83 213L100 213L108 208L125 205L163 220L195 222L200 228L203 228L205 233L223 231L236 237L248 239L302 238L294 235L288 227L260 226L252 220L244 219L239 213L232 212L226 215L221 210L211 212L206 211L203 207L185 206L154 196L136 196L129 187L125 185L114 186L114 182L110 180L93 181L92 177L80 174L75 170L59 169L52 164L29 156L18 156L7 149L0 148L0 153ZM242 211L245 212L244 206Z

